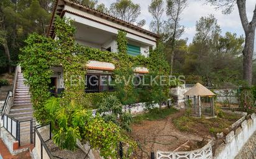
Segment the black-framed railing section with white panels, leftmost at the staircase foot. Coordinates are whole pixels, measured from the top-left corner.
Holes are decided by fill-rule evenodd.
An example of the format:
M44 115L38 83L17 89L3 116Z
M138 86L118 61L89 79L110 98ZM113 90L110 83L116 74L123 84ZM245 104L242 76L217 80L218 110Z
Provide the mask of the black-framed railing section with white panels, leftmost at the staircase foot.
M12 137L14 137L14 139L17 140L17 137L19 136L19 121L17 121L16 119L12 118L7 114L3 115L3 119L4 128L6 129L6 131L8 131L12 135Z

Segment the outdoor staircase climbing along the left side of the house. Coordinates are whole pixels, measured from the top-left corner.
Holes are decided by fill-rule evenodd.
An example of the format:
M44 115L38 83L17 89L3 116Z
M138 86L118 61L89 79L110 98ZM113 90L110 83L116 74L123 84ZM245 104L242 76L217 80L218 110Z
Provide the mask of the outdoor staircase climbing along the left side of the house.
M27 121L33 118L34 110L30 101L29 86L24 84L22 73L17 74L16 90L14 92L14 103L9 111L9 115L19 121ZM35 119L33 118L35 126Z

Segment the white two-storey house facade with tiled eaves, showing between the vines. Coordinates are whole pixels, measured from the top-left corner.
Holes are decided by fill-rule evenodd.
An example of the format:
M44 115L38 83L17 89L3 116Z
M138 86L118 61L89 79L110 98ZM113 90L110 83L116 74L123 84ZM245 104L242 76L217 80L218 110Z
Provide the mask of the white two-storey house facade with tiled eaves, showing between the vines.
M50 21L50 28L48 30L48 37L55 37L55 16L66 17L74 21L76 27L75 41L76 43L91 48L97 48L101 51L111 51L117 53L117 33L119 30L127 32L126 38L127 53L132 56L142 55L149 56L149 50L154 49L157 45L158 35L140 28L134 24L125 22L124 20L112 17L109 14L91 9L73 1L59 0L56 2L52 19ZM97 81L100 83L102 77L104 80L111 80L111 71L115 69L114 64L109 62L89 61L86 65L88 67L88 75L86 75L87 88L86 92L95 93L102 91L111 91L111 87L89 85ZM55 89L52 93L60 93L65 88L63 82L62 67L53 67L53 75L51 78L51 86ZM134 68L136 74L144 74L149 72L145 67ZM101 75L101 79L99 78ZM90 81L90 82L89 82Z

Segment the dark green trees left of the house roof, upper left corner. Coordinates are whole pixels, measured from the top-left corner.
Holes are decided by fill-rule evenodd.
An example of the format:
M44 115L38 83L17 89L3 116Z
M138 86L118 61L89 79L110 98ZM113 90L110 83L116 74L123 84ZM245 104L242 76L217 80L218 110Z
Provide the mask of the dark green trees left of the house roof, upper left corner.
M24 45L27 35L32 32L46 34L52 1L0 2L0 49L6 55L9 73L12 64L17 62L19 48Z

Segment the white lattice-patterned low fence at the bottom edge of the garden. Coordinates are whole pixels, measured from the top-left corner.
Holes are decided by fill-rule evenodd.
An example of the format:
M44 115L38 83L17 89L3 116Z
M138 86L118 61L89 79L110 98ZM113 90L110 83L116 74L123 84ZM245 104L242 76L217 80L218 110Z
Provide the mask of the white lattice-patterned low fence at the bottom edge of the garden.
M161 152L157 151L157 159L212 159L212 140L204 147L188 152Z

